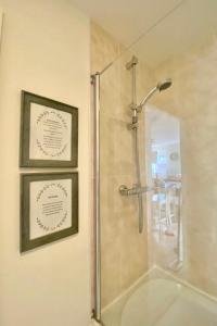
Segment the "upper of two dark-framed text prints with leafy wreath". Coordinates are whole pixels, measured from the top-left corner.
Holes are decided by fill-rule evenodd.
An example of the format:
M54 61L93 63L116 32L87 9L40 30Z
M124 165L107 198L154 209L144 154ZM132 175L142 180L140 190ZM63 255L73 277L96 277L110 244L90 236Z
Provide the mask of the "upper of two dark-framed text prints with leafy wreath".
M78 109L22 91L21 167L76 167Z

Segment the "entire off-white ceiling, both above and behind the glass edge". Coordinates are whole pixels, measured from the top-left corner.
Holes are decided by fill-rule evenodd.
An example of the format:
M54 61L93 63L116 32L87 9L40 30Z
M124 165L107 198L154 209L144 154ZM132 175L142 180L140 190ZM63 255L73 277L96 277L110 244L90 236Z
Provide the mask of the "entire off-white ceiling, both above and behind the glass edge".
M151 67L217 34L217 0L73 2Z

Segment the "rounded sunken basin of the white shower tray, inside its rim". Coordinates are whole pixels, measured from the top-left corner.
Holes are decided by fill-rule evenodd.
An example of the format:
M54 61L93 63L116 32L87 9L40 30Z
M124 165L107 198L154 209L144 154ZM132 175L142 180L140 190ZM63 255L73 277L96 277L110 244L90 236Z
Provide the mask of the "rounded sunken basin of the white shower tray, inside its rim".
M217 301L175 279L145 279L103 311L104 326L217 326Z

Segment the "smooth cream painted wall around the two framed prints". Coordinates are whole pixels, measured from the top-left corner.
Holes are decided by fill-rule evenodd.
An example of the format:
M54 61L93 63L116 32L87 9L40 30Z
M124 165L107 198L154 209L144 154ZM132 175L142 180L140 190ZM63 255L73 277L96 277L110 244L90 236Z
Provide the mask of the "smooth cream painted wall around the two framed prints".
M0 0L0 8L5 14L0 59L0 325L87 326L89 20L67 0ZM27 172L18 168L22 89L79 108L79 234L25 254L20 254L20 173Z

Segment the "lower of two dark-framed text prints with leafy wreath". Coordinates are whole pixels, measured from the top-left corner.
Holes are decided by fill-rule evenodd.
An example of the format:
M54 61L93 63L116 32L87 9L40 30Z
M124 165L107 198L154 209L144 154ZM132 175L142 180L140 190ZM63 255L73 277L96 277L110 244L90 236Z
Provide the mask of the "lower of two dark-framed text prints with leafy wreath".
M21 175L21 252L78 233L78 173Z

